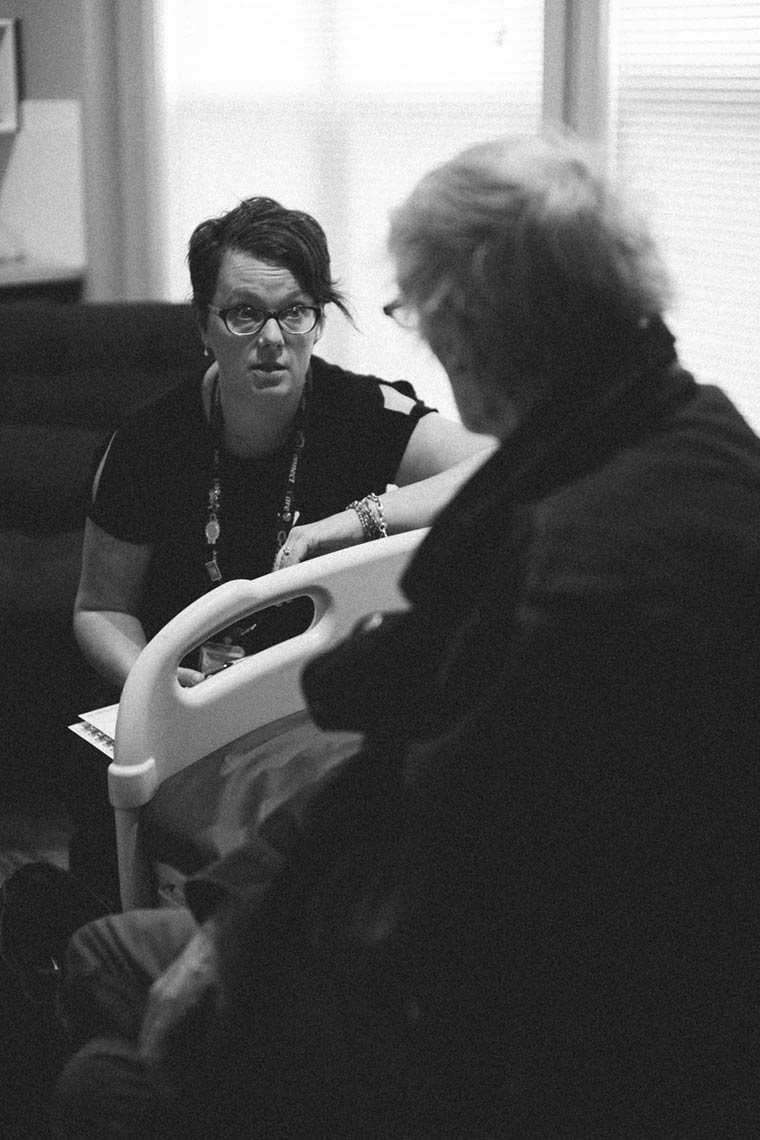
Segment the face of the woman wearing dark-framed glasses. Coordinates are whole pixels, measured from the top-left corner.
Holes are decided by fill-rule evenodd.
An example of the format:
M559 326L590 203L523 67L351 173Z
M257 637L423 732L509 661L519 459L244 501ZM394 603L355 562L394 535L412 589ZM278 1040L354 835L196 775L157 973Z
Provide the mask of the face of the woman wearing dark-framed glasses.
M227 250L219 269L212 304L231 309L250 304L279 311L292 304L314 304L289 269L260 261L240 250ZM219 364L228 399L281 401L293 409L301 399L311 353L321 323L305 334L284 332L273 319L247 336L230 333L219 314L210 311L204 342Z

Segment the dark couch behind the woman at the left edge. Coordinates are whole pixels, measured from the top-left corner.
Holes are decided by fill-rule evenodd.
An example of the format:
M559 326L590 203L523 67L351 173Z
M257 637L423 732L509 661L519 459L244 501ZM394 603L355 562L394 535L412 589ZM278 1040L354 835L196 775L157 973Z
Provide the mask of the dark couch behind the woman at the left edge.
M109 695L71 620L96 454L203 368L188 306L0 302L0 790L55 780L66 725Z

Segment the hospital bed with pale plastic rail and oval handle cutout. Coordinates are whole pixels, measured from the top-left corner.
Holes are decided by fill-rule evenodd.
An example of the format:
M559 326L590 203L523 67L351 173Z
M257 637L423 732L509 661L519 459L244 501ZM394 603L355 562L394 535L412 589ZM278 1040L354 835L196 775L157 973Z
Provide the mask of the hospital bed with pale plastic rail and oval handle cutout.
M399 578L425 530L222 584L145 648L122 692L108 768L122 906L180 903L187 877L245 840L304 782L351 755L353 733L313 725L300 676L375 611L402 610ZM193 689L179 662L219 630L308 596L310 627Z

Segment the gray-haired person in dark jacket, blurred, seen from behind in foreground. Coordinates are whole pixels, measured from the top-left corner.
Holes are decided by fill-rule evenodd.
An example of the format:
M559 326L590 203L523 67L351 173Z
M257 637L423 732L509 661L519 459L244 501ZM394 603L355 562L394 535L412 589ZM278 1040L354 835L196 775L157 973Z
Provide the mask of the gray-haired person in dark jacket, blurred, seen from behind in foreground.
M307 669L365 748L190 885L199 928L75 937L79 1040L111 1042L58 1134L162 1105L185 1137L757 1134L760 442L679 366L646 233L566 141L446 163L391 251L389 311L501 446L411 610ZM104 1073L131 1132L83 1130Z

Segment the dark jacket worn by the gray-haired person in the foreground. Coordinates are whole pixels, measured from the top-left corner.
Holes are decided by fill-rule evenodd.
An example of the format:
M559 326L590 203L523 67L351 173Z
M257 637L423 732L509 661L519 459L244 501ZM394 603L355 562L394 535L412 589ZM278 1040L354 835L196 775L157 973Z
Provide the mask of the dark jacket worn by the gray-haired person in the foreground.
M755 1134L760 442L660 329L403 585L308 669L368 743L229 923L240 1134Z

